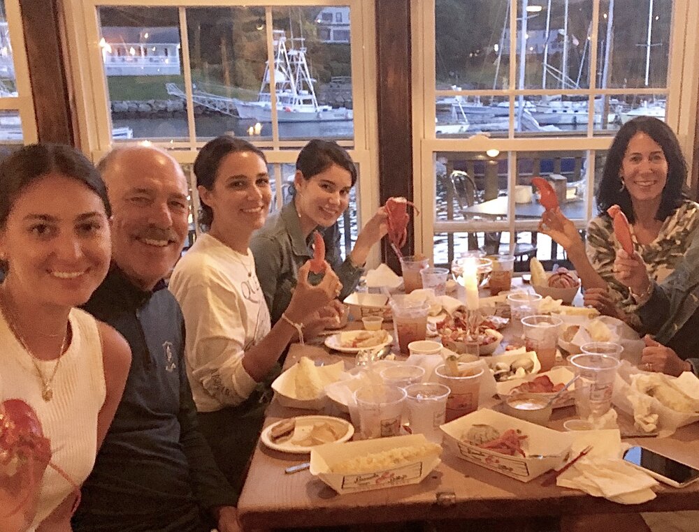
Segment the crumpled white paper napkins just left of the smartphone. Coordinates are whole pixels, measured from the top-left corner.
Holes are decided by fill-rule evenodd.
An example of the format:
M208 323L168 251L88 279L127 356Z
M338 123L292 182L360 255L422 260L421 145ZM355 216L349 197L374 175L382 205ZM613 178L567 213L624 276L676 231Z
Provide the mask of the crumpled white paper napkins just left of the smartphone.
M593 447L586 456L559 475L557 485L579 489L621 504L640 504L656 497L651 488L658 482L621 459L623 448L619 430L579 431L574 434L575 441L570 447L571 459L587 445Z

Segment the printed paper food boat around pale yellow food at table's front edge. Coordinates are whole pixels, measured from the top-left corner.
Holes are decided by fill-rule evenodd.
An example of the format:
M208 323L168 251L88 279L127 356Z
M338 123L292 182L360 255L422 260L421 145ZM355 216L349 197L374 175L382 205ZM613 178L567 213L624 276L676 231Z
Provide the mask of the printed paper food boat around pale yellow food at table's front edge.
M394 436L375 440L327 443L310 452L310 472L333 488L338 494L366 492L394 486L418 484L440 463L438 455L427 455L420 461L377 469L368 473L331 473L331 468L345 459L382 452L397 447L428 443L422 434Z

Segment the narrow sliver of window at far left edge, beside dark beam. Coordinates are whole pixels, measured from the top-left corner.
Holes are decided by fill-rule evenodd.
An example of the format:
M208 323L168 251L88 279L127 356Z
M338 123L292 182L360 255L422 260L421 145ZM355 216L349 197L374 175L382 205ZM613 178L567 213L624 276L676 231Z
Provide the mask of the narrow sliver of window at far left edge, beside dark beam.
M20 4L0 0L0 145L5 151L36 140Z

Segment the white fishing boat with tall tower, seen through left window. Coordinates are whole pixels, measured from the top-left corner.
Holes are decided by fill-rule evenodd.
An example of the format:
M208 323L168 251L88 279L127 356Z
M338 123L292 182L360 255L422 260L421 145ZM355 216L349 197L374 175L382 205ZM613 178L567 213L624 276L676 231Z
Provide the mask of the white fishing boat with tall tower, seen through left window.
M303 37L287 39L284 30L275 29L274 86L279 122L317 122L352 120L352 110L319 105L315 80L306 62ZM291 44L287 48L287 40ZM298 48L295 47L298 41ZM272 121L271 73L268 62L257 101L234 100L238 116L259 122Z

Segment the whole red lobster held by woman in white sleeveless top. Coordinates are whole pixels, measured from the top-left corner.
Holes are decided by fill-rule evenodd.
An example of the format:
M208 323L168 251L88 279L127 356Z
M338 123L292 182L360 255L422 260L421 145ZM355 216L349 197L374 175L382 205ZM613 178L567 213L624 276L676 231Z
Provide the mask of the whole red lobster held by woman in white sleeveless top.
M22 492L25 493L15 508L7 513L6 508L0 510L3 516L15 515L29 502L37 482L41 481L41 477L35 478L37 462L44 464L41 471L48 465L69 482L75 492L73 512L77 510L80 487L62 468L52 464L50 459L50 442L43 435L41 422L34 409L21 399L7 399L0 404L0 481L4 478L8 480L8 485L19 486L21 491L17 498L20 498Z

